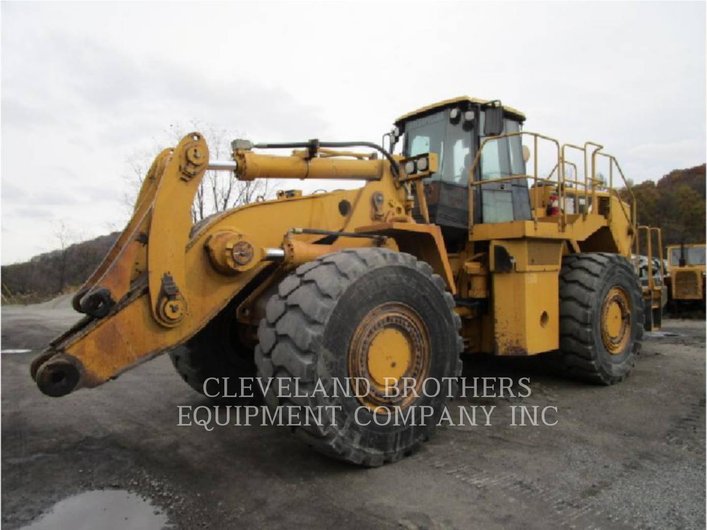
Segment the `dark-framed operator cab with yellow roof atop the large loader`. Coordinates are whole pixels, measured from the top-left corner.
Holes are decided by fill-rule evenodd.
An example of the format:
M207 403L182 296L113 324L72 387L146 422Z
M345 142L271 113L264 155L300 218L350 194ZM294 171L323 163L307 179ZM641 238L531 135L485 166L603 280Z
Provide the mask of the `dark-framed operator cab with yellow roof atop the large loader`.
M430 222L440 226L448 248L467 238L469 175L481 143L489 136L519 132L524 120L522 112L499 101L462 97L423 107L395 122L392 148L402 138L406 158L438 155L439 170L424 185ZM473 178L478 182L525 174L521 137L511 136L486 143ZM531 218L526 179L476 186L474 194L474 223Z

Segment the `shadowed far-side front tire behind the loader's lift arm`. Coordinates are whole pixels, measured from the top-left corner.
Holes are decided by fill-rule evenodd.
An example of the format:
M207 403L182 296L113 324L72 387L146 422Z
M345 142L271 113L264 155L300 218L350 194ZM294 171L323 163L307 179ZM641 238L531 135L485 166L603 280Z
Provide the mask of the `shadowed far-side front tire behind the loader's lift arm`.
M177 373L199 394L204 394L204 382L211 380L206 391L219 404L241 405L249 398L226 398L223 394L237 394L240 377L255 377L253 350L244 341L242 324L235 319L234 304L228 305L211 319L196 335L170 351L170 359ZM231 387L224 384L228 377ZM255 389L257 385L252 385ZM228 390L228 392L226 392ZM204 394L206 395L206 394Z

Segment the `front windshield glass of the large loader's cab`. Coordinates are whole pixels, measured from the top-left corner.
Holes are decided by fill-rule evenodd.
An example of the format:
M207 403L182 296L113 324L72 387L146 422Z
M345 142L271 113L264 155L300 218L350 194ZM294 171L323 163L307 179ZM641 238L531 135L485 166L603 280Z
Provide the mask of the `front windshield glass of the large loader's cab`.
M413 119L405 124L406 156L437 153L439 171L431 180L466 186L472 166L472 131L465 131L462 120L452 124L449 110Z

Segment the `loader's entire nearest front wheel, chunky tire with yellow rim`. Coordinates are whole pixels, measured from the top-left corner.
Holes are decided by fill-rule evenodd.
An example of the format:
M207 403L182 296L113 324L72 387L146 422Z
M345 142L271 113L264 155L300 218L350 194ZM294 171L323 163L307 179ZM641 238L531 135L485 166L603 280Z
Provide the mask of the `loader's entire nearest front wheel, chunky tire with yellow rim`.
M345 250L300 266L279 285L258 329L258 375L275 379L266 404L323 411L293 430L331 457L379 466L410 454L433 435L450 394L432 384L426 396L425 379L453 389L461 372L461 322L444 288L428 264L386 249ZM414 378L417 397L399 392L403 377ZM294 378L305 397L279 391ZM397 390L386 393L386 378L401 383ZM317 382L325 392L315 391ZM423 410L431 416L421 423ZM417 414L416 425L395 425L396 412Z

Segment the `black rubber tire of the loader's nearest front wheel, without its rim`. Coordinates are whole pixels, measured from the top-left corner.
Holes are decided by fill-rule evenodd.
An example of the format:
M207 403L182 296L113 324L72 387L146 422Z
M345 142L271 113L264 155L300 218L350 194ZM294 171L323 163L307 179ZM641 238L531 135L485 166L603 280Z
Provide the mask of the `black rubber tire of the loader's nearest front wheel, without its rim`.
M454 300L445 292L442 278L432 273L431 266L409 254L379 248L328 254L298 267L282 281L278 293L267 304L267 316L260 322L259 344L255 348L259 377L274 377L264 396L265 402L271 411L288 405L324 410L320 425L313 422L309 426L297 425L293 426L293 431L330 457L364 466L397 461L433 435L445 407L446 389L436 396L421 394L401 407L407 410L407 406L412 405L431 406L434 412L425 425L380 426L372 421L374 413L370 409L361 408L362 402L356 396L344 396L340 391L338 396L332 395L334 378L344 382L345 377L350 377L349 363L358 359L351 351L365 351L362 355L368 358L373 351L373 334L390 333L397 325L391 324L390 319L383 320L383 324L375 328L378 331L366 335L373 337L365 343L368 349L356 346L361 344L358 342L361 329L370 329L366 327L368 322L373 322L370 315L379 314L377 312L382 311L379 308L391 307L391 304L407 308L401 311L419 315L418 322L423 322L421 327L429 339L430 352L426 377L458 377L462 369L459 355L463 341L458 331L461 321L453 311ZM411 347L407 351L418 350ZM395 363L387 363L388 360L385 370L395 367ZM415 363L406 363L404 369L422 366ZM368 370L370 359L363 365ZM300 378L300 394L310 395L305 398L279 396L276 383L284 381L283 387L286 387L296 377ZM317 380L327 389L326 396L312 392ZM317 409L317 406L340 406L341 409L332 418L327 409ZM371 420L370 425L362 425L368 420Z

